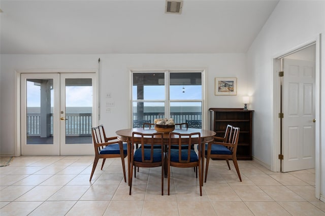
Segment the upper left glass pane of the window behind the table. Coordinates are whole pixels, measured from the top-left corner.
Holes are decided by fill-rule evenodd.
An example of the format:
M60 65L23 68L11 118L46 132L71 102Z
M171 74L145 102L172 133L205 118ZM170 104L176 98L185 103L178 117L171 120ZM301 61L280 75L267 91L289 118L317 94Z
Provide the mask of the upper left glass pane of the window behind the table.
M164 73L133 74L133 100L165 100Z

